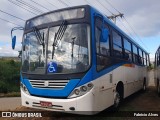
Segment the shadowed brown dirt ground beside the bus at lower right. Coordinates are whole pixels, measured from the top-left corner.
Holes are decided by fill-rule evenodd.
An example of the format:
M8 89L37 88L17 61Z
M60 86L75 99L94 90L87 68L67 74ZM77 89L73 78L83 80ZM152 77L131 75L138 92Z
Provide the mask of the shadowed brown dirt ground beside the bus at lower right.
M123 111L160 111L160 97L154 86L148 87L145 93L142 91L126 98L121 105Z

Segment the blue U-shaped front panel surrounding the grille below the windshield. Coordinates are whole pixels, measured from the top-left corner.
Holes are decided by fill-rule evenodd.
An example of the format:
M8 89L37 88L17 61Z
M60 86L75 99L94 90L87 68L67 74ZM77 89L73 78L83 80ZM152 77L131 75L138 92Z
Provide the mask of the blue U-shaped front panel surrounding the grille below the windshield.
M36 96L46 96L46 97L68 97L73 91L76 85L79 83L80 79L72 79L63 89L52 89L52 88L34 88L30 84L28 79L23 79L24 84L28 88L28 91L32 95Z

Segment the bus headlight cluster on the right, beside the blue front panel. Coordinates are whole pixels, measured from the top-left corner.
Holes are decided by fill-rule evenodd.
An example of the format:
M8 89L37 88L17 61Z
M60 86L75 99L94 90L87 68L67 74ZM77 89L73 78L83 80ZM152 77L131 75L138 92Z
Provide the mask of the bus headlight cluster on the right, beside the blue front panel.
M93 88L93 84L92 83L87 83L87 84L85 84L83 86L77 87L72 91L72 93L69 95L68 98L74 98L74 97L78 97L78 96L84 95L87 92L89 92L92 88Z

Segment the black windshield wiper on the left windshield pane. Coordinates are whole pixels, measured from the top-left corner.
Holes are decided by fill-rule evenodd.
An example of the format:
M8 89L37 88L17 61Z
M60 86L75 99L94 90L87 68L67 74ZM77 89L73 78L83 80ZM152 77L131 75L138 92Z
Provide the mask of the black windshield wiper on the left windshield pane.
M44 32L43 35L41 35L40 31L36 27L33 27L33 31L36 35L39 44L43 46L43 54L44 54L45 53Z

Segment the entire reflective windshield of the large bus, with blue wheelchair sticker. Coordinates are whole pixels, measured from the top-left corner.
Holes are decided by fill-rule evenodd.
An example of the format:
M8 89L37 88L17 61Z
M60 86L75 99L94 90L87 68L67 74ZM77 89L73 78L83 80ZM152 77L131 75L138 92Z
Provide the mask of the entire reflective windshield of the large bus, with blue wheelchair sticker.
M60 25L39 30L43 36L44 44L39 42L35 32L24 35L23 72L30 74L67 74L84 72L89 68L89 25L84 23L67 25L62 39L57 39L55 45L55 34L59 27Z

